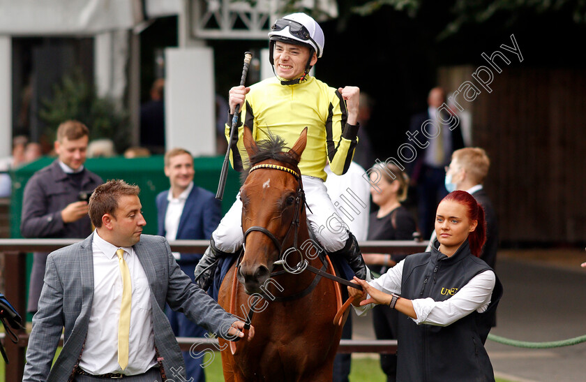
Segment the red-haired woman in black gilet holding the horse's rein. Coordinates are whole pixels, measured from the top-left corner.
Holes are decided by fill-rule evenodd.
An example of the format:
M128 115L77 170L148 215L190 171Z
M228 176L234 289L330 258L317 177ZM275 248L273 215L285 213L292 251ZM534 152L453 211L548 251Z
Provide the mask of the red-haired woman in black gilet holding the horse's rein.
M430 252L407 256L378 279L349 288L359 314L368 304L398 310L398 381L494 381L484 348L502 295L495 272L478 258L486 241L483 208L465 191L437 207ZM368 305L372 307L372 305Z

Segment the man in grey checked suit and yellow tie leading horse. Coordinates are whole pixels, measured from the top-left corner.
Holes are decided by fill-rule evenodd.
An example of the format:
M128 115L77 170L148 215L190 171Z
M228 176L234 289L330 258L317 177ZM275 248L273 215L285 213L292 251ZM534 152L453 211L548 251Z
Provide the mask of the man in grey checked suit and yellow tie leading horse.
M142 235L139 192L122 180L98 186L94 233L48 256L23 381L187 381L165 302L220 337L244 337L244 323L181 272L167 240Z

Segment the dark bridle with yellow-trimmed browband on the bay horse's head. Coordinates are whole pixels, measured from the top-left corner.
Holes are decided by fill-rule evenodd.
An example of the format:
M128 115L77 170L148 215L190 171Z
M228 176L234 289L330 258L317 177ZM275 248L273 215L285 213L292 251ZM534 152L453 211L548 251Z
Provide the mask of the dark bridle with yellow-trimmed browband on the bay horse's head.
M277 237L275 235L273 235L273 233L271 233L271 231L269 231L266 228L261 227L261 226L252 226L252 227L248 228L248 230L246 230L246 232L244 233L244 245L245 246L246 246L246 237L248 236L249 233L251 233L253 231L258 231L258 232L264 233L264 235L268 236L269 239L271 239L273 241L273 243L275 244L275 247L277 248L277 251L279 252L279 259L275 262L275 264L282 265L283 264L283 243L285 243L285 240L287 240L287 237L289 237L289 234L291 233L291 230L293 228L294 228L294 239L293 239L293 247L292 248L301 255L301 251L299 251L299 248L297 247L297 237L299 235L299 215L301 214L300 206L306 205L305 193L303 192L303 184L301 183L301 175L299 175L299 173L297 173L295 170L292 170L291 168L288 168L285 166L269 164L269 163L254 166L253 168L250 168L248 173L250 174L250 172L253 172L255 170L259 170L260 168L268 168L271 170L280 170L280 171L289 172L297 180L297 190L295 191L295 212L294 212L294 216L293 216L293 221L292 221L291 225L289 226L289 230L287 230L285 237L283 237L283 240L281 240L279 242ZM300 266L301 266L301 263L300 263ZM286 267L285 267L285 270L287 270Z

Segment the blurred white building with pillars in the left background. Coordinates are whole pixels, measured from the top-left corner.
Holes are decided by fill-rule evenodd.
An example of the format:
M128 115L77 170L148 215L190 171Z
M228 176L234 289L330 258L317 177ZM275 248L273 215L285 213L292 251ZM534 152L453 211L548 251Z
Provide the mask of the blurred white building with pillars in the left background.
M100 96L126 105L130 142L139 142L140 34L157 17L177 15L179 47L165 49L165 140L195 155L216 152L215 75L211 39L266 40L281 0L256 6L231 0L0 0L0 157L27 119L38 140L38 108L73 66L93 76ZM337 16L333 0L300 1ZM243 52L242 52L243 53ZM268 52L261 77L272 75ZM235 82L239 73L234 73ZM31 93L30 112L22 95ZM30 95L30 94L29 94ZM197 121L197 124L195 123ZM91 127L91 126L90 126Z

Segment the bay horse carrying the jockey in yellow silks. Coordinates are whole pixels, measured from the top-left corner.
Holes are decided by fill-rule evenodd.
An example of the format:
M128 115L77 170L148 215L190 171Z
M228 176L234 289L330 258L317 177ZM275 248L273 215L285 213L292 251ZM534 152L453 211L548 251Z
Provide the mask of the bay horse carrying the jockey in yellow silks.
M248 128L243 142L251 166L240 190L244 250L223 280L218 302L252 321L255 336L219 339L225 381L331 381L348 312L334 324L340 286L302 266L333 273L329 260L313 256L308 245L297 167L307 128L287 152L278 137L257 145Z

